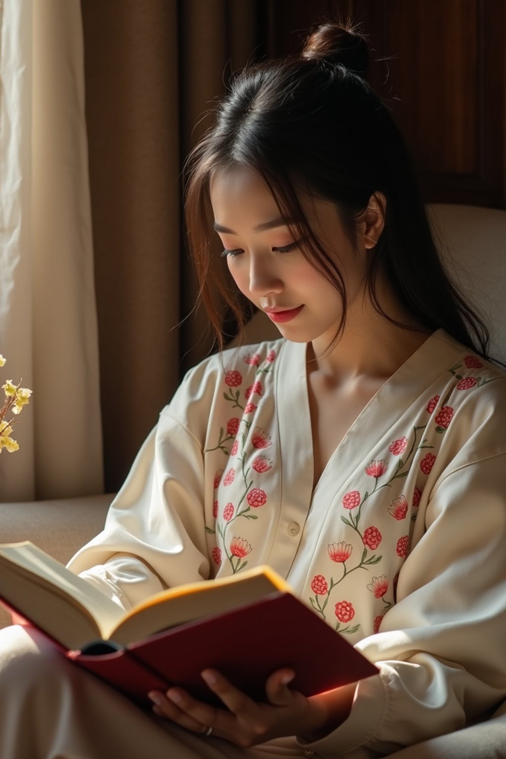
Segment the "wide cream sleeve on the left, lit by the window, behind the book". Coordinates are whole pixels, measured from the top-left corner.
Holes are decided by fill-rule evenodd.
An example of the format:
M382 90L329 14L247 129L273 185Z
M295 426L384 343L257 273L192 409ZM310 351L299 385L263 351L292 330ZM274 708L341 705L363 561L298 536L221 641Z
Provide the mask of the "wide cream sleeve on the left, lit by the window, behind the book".
M192 370L143 443L105 528L68 564L120 606L209 578L203 442L215 383Z

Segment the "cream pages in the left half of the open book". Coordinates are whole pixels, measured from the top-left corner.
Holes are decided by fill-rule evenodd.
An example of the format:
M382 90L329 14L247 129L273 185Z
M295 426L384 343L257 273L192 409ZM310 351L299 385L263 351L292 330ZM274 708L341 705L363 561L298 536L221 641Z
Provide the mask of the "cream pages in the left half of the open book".
M88 641L90 634L105 637L104 629L124 615L114 601L29 541L0 545L0 597L68 648Z

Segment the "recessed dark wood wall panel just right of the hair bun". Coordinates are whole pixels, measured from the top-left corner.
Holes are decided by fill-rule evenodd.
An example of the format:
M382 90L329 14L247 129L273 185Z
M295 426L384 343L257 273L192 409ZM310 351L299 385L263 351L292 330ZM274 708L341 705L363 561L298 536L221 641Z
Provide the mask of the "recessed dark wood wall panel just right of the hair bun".
M478 69L476 0L388 0L383 5L382 49L376 89L388 96L388 65L395 114L423 172L476 175ZM463 13L462 11L465 11ZM379 76L383 74L382 79Z

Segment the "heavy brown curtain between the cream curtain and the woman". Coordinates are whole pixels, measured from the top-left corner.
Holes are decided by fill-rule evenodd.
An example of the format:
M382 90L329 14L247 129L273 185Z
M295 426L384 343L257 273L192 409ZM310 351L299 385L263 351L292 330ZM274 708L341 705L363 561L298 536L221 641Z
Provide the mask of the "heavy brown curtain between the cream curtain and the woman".
M262 0L81 0L105 490L210 350L184 252L181 167L231 71L264 54ZM196 126L195 126L196 125Z

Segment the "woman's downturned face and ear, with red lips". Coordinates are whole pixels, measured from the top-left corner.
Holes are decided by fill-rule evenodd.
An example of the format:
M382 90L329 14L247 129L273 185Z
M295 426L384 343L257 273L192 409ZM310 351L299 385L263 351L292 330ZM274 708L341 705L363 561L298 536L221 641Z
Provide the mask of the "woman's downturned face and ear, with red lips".
M330 342L341 320L341 298L303 256L303 241L281 218L260 175L245 166L218 172L210 197L215 230L240 291L266 311L288 340L311 342L326 336ZM363 291L365 247L359 244L354 250L333 203L300 200L311 228L335 255L351 307Z

